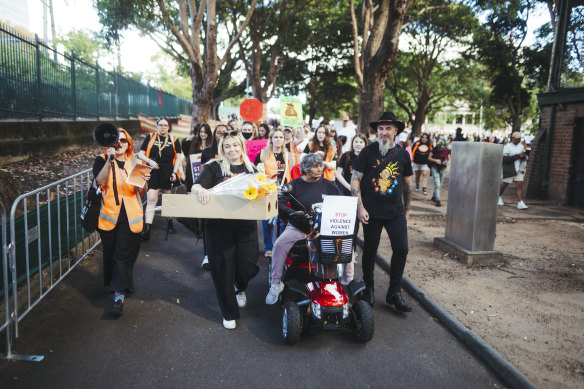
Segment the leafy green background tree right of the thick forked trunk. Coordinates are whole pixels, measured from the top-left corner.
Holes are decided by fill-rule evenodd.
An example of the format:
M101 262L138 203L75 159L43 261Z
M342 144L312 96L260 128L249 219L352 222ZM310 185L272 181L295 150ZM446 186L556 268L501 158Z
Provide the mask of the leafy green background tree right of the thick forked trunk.
M420 7L426 11L420 13ZM466 100L476 72L459 52L468 47L478 22L469 7L442 0L417 3L408 16L403 28L408 50L397 56L386 85L390 101L419 136L428 116L446 103Z

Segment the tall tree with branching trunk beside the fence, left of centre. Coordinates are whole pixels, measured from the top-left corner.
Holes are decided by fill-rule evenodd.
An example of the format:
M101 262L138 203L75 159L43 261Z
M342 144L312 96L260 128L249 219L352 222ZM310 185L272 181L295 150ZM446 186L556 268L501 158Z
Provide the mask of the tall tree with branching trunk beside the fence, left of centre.
M125 29L136 27L177 61L188 61L194 126L209 120L219 72L230 60L231 49L247 28L256 3L251 0L238 15L222 55L216 0L96 0L95 5L109 36L119 39Z

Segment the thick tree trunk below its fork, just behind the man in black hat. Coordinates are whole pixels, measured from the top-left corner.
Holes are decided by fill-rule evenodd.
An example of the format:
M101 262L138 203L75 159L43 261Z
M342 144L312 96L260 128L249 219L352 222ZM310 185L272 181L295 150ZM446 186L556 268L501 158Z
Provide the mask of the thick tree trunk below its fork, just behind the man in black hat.
M363 88L359 94L358 128L364 134L369 131L369 123L383 114L383 101L387 73L371 71L363 75Z

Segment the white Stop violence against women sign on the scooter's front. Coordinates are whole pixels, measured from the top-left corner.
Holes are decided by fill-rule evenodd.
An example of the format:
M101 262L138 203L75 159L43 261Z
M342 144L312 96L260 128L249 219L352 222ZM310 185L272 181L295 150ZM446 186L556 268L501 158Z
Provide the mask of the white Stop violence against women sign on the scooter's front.
M323 196L321 235L351 235L357 220L357 197Z

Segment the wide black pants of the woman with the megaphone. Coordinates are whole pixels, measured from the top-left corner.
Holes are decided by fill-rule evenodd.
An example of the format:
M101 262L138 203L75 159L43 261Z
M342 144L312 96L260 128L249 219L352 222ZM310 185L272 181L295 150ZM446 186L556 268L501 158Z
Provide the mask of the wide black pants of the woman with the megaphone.
M103 284L116 292L134 292L134 264L140 252L140 234L130 230L128 221L111 231L99 230L103 247Z

